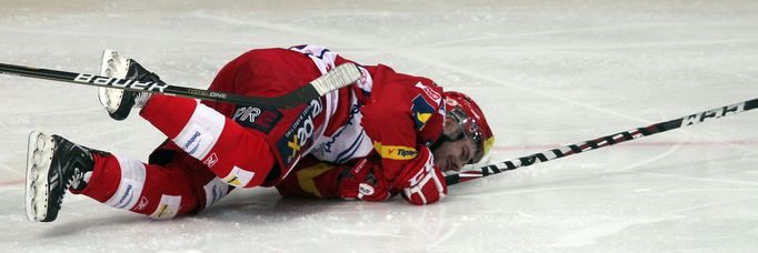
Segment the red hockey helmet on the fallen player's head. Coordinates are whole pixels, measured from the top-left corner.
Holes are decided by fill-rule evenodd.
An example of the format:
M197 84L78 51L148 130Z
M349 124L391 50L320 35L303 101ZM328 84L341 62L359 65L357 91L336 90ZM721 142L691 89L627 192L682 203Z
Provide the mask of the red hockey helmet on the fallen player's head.
M489 153L495 143L495 135L490 130L485 113L481 112L479 105L468 95L457 91L446 91L445 110L446 123L453 122L457 129L452 134L446 133L448 140L460 140L469 138L477 144L477 151L473 159L468 163L477 163Z

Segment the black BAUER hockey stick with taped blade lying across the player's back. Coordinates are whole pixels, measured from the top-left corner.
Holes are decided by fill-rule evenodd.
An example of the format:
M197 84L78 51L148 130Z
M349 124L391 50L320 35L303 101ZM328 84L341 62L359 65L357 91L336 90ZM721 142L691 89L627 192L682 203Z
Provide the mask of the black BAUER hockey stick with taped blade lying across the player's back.
M338 65L326 74L315 79L310 83L291 91L287 94L263 98L263 97L248 97L219 91L208 91L187 87L176 87L169 84L160 84L156 82L140 82L136 80L107 78L94 74L73 73L58 70L36 69L23 65L12 65L0 63L0 73L9 75L19 75L26 78L47 79L61 82L70 82L76 84L117 88L130 91L147 91L153 93L179 95L201 100L212 100L219 102L230 102L237 104L259 105L265 108L293 108L318 99L330 91L347 87L353 83L361 77L361 71L355 63L348 62Z

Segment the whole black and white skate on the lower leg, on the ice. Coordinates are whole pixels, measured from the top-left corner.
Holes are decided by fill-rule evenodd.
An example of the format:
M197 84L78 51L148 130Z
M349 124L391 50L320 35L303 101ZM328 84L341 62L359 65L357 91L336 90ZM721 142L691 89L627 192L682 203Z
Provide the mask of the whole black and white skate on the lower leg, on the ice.
M94 166L91 152L58 135L37 131L29 134L26 186L29 221L54 221L66 191L87 186Z

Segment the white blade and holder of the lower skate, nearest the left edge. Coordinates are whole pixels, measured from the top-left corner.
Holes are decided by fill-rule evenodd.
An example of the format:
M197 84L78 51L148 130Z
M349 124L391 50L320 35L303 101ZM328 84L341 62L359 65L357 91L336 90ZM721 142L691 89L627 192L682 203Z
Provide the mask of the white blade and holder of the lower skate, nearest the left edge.
M52 158L52 138L41 132L29 133L27 149L26 213L29 221L42 221L48 215L48 170Z

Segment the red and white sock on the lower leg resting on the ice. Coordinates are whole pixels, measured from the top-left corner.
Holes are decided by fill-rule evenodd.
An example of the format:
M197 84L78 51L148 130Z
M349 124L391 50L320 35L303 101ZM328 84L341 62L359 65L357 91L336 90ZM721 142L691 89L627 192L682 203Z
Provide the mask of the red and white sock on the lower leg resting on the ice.
M71 192L153 219L197 212L229 192L228 185L210 172L144 164L118 154L93 156L87 188Z

